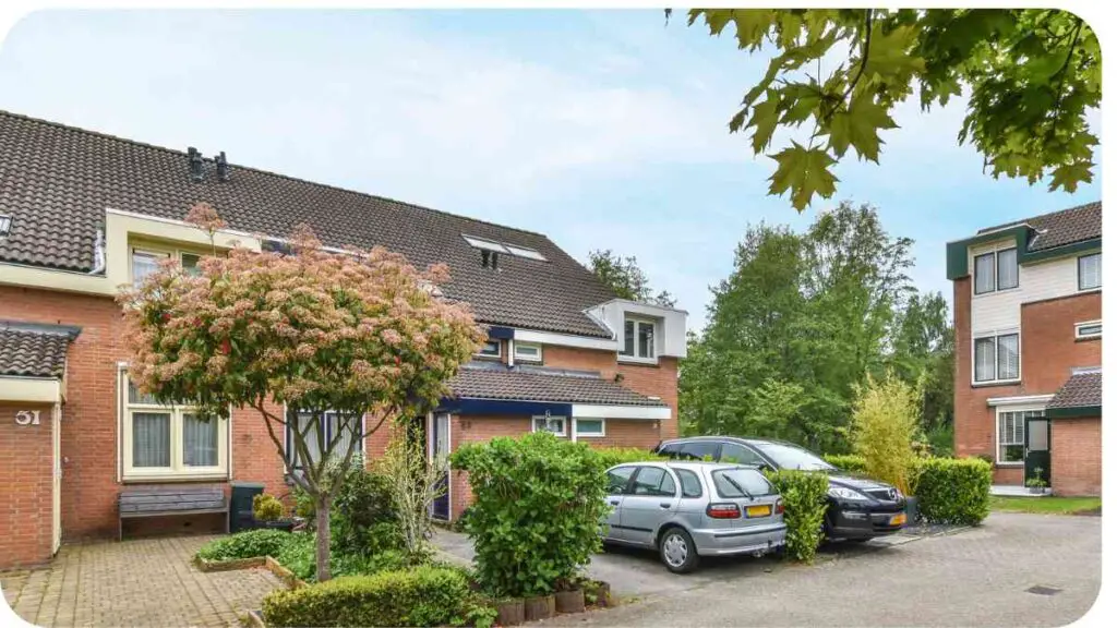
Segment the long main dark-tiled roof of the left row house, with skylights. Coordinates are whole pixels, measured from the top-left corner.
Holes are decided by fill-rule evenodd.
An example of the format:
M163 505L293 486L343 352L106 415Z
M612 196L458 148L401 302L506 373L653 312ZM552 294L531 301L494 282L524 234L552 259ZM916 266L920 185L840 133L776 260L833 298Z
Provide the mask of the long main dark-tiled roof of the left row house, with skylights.
M181 220L206 201L232 229L286 237L306 222L328 246L381 245L420 268L446 263L445 294L481 322L610 337L583 311L615 295L546 236L237 164L220 182L213 161L204 166L193 182L185 152L0 112L0 213L15 219L0 261L88 272L106 208ZM483 268L462 234L546 261L502 255L499 270Z

